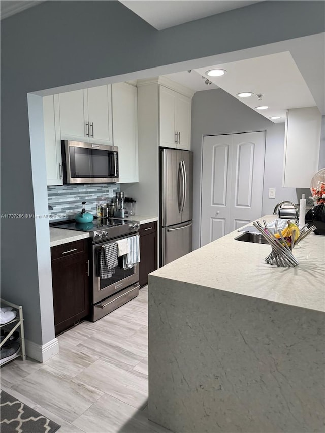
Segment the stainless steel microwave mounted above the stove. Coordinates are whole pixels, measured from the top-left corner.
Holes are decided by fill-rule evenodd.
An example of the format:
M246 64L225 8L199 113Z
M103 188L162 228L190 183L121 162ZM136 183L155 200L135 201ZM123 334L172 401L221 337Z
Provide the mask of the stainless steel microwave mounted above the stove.
M119 182L118 147L62 140L63 184Z

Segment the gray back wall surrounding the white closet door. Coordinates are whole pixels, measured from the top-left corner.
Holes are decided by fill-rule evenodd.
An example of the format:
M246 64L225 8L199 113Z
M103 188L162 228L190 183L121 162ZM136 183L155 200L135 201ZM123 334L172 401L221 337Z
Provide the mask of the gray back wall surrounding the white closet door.
M194 152L193 249L200 246L202 138L204 135L266 130L262 215L272 214L275 205L282 200L299 203L301 193L309 197L309 189L281 186L284 127L284 123L271 122L222 89L206 90L194 94L191 131L191 148ZM268 198L269 188L276 188L275 199Z

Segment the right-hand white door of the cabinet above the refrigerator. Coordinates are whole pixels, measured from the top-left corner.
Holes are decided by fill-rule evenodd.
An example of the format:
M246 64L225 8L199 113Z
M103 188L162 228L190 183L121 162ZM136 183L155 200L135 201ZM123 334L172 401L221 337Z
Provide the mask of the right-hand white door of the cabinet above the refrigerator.
M178 94L175 109L175 129L179 134L178 149L190 150L191 148L191 109L191 99Z

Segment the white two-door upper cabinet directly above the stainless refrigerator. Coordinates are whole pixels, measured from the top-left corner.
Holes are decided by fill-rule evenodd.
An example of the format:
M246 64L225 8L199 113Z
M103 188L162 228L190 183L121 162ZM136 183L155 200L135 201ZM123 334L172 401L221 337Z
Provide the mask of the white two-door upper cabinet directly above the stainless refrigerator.
M159 146L190 150L191 98L159 86Z

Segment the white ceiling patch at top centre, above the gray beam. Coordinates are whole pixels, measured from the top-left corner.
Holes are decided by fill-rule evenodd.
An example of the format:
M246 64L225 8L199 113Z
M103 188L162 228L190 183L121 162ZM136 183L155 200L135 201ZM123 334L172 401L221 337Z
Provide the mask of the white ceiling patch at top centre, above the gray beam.
M261 0L120 0L157 30L259 3Z

